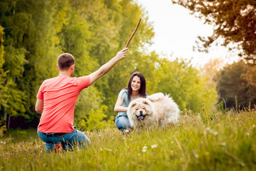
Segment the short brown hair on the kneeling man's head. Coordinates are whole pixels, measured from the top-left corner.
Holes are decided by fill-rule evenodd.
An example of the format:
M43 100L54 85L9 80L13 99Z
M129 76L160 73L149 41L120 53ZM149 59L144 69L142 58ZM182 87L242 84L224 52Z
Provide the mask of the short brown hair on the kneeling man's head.
M57 63L59 66L59 70L67 70L75 64L75 58L71 54L64 53L59 55Z

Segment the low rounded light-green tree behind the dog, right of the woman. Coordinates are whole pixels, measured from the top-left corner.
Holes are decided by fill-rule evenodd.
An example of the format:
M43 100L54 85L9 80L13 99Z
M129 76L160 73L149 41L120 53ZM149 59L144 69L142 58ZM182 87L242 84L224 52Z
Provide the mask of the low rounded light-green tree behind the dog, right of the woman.
M208 87L190 61L159 59L153 75L157 79L151 84L153 87L149 88L150 91L170 94L181 111L189 109L197 112L198 108L204 106L210 109L211 103L214 105L217 101L215 87Z

